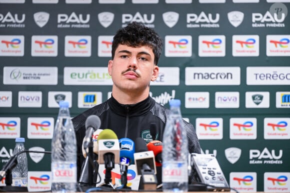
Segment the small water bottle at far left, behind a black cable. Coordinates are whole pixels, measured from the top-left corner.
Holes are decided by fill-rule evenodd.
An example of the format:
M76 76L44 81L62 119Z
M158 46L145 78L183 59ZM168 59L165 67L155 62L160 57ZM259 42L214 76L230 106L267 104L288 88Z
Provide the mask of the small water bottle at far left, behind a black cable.
M13 150L13 155L19 152L25 151L24 138L15 139L15 148ZM17 165L12 170L12 186L14 187L27 187L27 155L26 153L19 154L17 157Z

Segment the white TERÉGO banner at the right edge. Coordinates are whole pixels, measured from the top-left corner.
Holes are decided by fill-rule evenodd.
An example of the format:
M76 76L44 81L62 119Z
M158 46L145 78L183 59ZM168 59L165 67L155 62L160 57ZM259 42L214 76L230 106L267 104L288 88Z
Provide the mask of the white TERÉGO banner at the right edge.
M246 67L247 85L290 85L290 67Z

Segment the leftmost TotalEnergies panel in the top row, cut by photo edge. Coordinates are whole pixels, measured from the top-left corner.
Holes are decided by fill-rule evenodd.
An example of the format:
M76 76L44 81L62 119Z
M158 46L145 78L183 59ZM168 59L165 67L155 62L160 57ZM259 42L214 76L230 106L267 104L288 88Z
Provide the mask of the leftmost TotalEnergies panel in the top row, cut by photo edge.
M0 35L0 56L23 56L23 35Z

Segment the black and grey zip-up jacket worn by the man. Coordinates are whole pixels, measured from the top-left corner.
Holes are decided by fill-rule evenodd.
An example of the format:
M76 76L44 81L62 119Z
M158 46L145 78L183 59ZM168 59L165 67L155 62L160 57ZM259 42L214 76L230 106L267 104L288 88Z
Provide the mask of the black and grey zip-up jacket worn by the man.
M146 142L152 140L150 135L150 124L156 124L156 136L153 140L162 142L163 130L169 116L169 109L156 103L148 96L145 100L133 104L119 104L113 97L107 101L94 106L72 119L77 141L77 168L78 176L84 158L81 154L82 140L85 136L85 120L90 115L97 115L101 125L99 129L111 129L118 137L135 140L138 137ZM200 153L200 145L195 130L190 123L184 121L187 134L189 153Z

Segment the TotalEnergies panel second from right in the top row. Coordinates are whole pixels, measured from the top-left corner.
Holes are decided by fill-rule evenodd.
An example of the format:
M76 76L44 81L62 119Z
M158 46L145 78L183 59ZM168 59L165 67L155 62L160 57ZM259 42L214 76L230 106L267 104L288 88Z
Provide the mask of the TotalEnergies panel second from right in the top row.
M233 35L232 36L233 56L259 56L258 35Z

